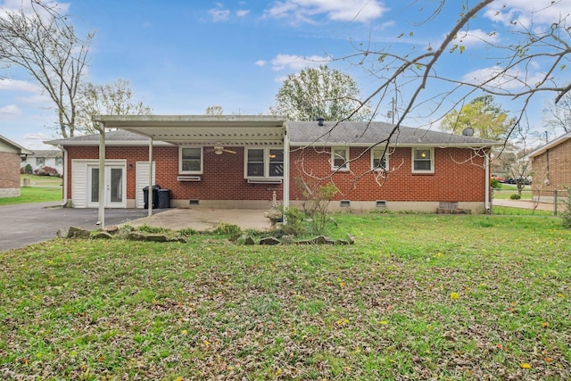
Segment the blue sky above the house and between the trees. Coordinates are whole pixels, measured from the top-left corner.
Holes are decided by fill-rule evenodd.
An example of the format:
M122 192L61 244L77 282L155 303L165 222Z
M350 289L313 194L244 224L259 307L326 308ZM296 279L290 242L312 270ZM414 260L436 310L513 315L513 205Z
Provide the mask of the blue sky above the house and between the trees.
M155 114L203 114L211 105L222 106L228 114L268 113L286 75L325 63L329 57L355 54L353 46L370 45L373 50L397 54L418 54L428 46L438 46L459 18L463 3L449 1L434 21L426 21L440 1L60 2L79 35L95 31L86 80L103 85L127 79L135 98L151 106ZM531 18L530 11L550 3L494 2L470 23L470 33L462 41L466 51L445 54L436 70L458 79L485 76L485 70L495 62L489 59L490 46L484 40L492 45L509 44L513 35L504 29L506 23L525 23ZM0 0L0 11L20 4L21 0ZM546 28L570 11L571 0L560 1L534 14L534 28ZM368 72L370 64L358 65L359 61L360 57L354 57L328 65L350 74L362 95L369 95L380 81ZM528 69L532 70L528 80L533 80L534 72L546 70L546 66L534 62ZM0 80L0 135L30 149L57 137L56 114L47 110L51 104L29 76L14 69L0 69L0 74L6 77ZM567 79L558 80L569 80L565 71L556 73L559 75L567 75ZM441 91L440 86L431 87L429 82L424 99ZM406 87L402 92L410 96ZM538 98L529 108L538 131L543 129L543 100L548 97ZM446 106L451 106L450 102ZM501 104L508 110L511 107ZM390 107L390 102L385 102L381 109ZM419 118L407 120L407 125L428 127L434 118L429 115L431 107L420 106L416 111ZM377 120L386 120L386 112L380 114Z

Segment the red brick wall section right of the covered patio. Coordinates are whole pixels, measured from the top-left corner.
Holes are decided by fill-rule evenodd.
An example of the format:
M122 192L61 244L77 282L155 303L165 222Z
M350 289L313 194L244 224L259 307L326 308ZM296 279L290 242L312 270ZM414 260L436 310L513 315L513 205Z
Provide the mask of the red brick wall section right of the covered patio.
M352 148L350 160L363 153L362 148ZM448 201L482 202L485 199L485 171L483 154L470 149L434 148L434 173L412 173L411 148L396 148L389 157L392 173L378 178L370 170L370 153L362 159L350 162L350 171L338 171L331 176L330 153L309 149L304 153L292 153L291 199L301 200L302 195L294 186L294 178L311 180L324 178L339 189L336 200L352 201ZM364 174L364 175L363 175ZM328 178L331 176L331 178ZM379 184L380 183L380 184Z

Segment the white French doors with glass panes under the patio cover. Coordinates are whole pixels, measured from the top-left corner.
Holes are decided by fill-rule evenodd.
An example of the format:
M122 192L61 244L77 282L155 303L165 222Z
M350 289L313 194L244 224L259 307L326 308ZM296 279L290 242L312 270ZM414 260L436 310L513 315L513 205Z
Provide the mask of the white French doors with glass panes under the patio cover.
M88 166L89 177L87 189L87 204L91 207L99 205L99 166ZM127 182L125 167L119 165L105 166L105 208L125 208L127 201L125 191Z

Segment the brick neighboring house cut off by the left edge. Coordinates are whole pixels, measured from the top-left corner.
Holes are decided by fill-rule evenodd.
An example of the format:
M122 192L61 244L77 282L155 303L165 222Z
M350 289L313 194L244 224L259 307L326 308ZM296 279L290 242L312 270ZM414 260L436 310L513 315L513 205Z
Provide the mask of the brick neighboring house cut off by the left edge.
M0 135L0 198L20 196L21 156L31 151Z

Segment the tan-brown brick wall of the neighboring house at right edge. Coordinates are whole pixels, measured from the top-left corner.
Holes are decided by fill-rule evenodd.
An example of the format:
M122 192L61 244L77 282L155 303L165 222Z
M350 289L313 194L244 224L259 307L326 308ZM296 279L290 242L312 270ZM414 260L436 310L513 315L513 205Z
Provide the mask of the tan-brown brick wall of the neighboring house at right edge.
M532 170L534 172L534 188L542 186L542 190L554 191L571 186L571 139L551 147L548 153L542 153L534 158ZM549 184L545 183L549 179Z

